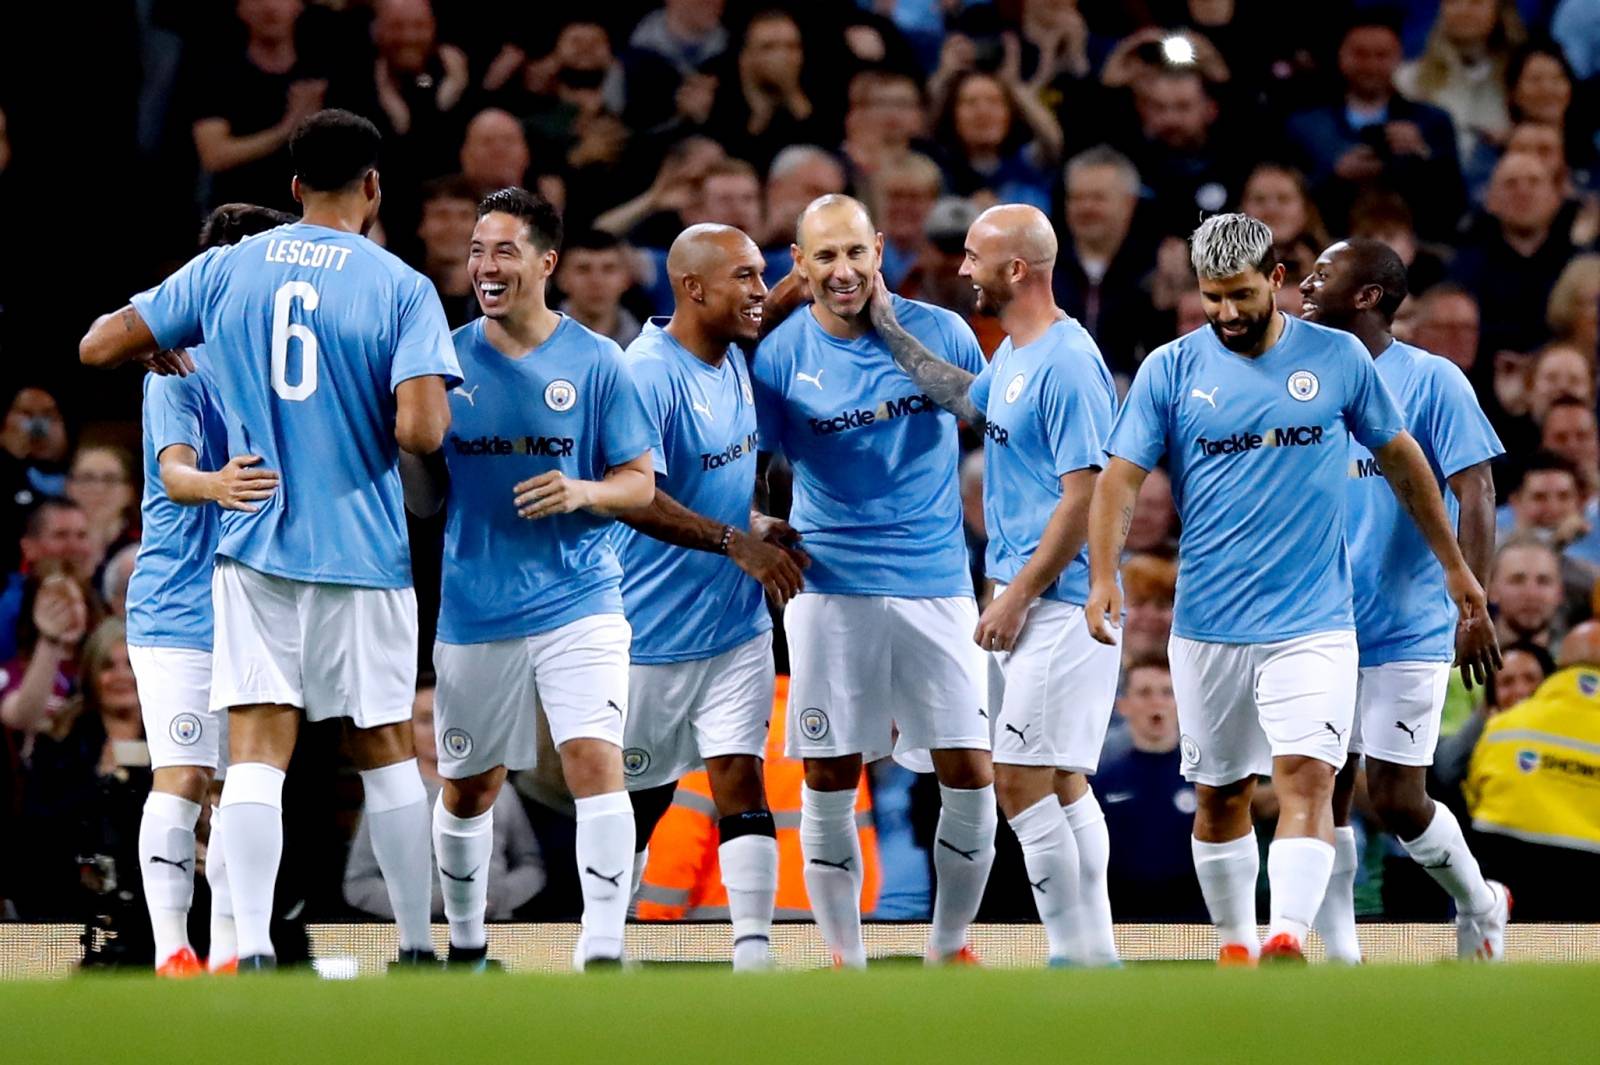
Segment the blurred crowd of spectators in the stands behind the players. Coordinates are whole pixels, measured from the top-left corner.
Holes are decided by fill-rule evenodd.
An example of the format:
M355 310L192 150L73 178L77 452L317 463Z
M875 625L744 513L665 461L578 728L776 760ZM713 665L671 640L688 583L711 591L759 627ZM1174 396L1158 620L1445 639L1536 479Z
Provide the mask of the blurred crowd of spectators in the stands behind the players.
M1294 285L1330 240L1384 240L1411 286L1397 334L1469 376L1509 453L1494 472L1501 542L1488 584L1507 665L1486 699L1459 681L1451 689L1442 798L1464 803L1472 740L1538 689L1563 636L1595 612L1594 0L1293 11L1262 0L130 6L123 48L144 59L109 70L102 88L138 101L115 114L128 125L128 162L154 189L147 217L170 222L118 267L130 286L187 257L213 205L293 209L286 139L328 106L382 130L373 238L434 280L451 325L477 313L466 277L475 200L512 184L565 213L552 305L619 344L670 312L666 246L683 225L747 230L776 283L800 208L848 190L885 235L888 283L966 315L992 352L998 326L957 277L962 238L987 205L1034 203L1061 237L1058 301L1123 387L1152 349L1205 321L1184 246L1205 213L1243 209L1272 227L1286 313L1299 312ZM6 138L6 109L18 107L26 101L0 98L0 200L19 195L10 170L43 166L26 138L14 150ZM16 200L0 208L19 216ZM11 286L0 307L21 307L16 278L0 283ZM82 313L62 315L66 325ZM37 321L8 318L11 344L19 323ZM118 620L139 540L138 384L128 376L88 393L67 363L62 353L37 387L0 397L0 899L29 919L126 903L138 891L130 817L149 785ZM981 560L981 464L962 470ZM438 526L413 532L427 603ZM1112 900L1126 919L1202 916L1187 865L1194 795L1178 774L1165 668L1176 540L1171 488L1154 472L1128 534L1123 694L1099 780ZM982 595L981 564L974 580ZM306 745L318 744L306 758L338 758L336 739L309 731ZM302 860L286 862L286 876L304 876L291 897L309 900L307 916L371 910L382 894L363 880L360 846L339 875L352 792L346 779L301 806L323 820L318 803L344 811L334 832L306 833ZM570 846L550 809L560 798L541 782L518 795L528 817L498 860L526 868L501 911L560 915L571 900L555 870L570 862L547 862L546 883L538 857ZM1406 894L1402 864L1384 860L1394 854L1374 833L1365 910L1438 910L1419 900L1426 892ZM990 895L995 913L1027 908L1026 886L1002 872ZM1574 916L1597 916L1592 897Z

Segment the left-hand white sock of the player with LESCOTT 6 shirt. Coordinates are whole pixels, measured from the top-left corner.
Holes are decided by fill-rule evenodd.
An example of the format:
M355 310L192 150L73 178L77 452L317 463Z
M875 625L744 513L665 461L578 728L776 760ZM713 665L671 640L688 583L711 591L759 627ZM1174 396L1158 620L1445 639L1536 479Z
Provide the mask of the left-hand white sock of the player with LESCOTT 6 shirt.
M238 956L275 958L272 889L283 860L283 771L259 761L229 766L222 820Z

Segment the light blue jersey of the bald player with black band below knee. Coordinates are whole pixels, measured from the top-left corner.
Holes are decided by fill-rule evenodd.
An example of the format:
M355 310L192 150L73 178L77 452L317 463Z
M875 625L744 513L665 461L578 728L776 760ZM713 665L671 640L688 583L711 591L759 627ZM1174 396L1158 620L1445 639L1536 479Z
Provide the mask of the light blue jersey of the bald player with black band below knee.
M738 347L710 366L653 318L627 366L661 446L656 485L712 521L746 529L755 497L755 397ZM618 523L622 603L635 662L690 662L771 630L762 585L722 555L674 547Z

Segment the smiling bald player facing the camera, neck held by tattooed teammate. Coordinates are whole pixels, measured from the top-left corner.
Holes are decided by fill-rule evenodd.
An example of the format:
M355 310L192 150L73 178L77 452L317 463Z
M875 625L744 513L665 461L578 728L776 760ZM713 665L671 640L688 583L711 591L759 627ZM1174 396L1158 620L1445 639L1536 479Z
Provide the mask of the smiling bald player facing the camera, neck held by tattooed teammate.
M789 603L787 750L805 760L806 891L837 963L866 966L856 784L862 760L933 752L942 811L933 862L931 963L974 961L966 927L994 864L995 798L982 654L957 489L955 417L922 393L872 328L883 235L850 197L800 214L790 248L813 302L755 353L763 451L794 467L789 520L811 566ZM906 329L976 374L973 331L894 297Z

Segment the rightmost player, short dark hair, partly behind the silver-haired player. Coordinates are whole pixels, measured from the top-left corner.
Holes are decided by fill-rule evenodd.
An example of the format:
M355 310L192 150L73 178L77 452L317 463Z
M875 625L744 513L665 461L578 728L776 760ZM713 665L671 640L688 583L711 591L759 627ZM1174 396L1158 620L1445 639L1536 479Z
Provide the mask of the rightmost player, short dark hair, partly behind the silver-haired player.
M1494 561L1490 462L1506 449L1466 374L1448 358L1390 334L1405 293L1400 256L1389 245L1357 237L1323 251L1301 281L1301 317L1352 333L1371 353L1443 493L1461 555L1486 584ZM1445 571L1384 485L1373 453L1355 441L1346 539L1354 563L1360 672L1350 760L1333 798L1333 876L1314 927L1330 958L1362 959L1355 939L1355 830L1349 822L1355 768L1365 755L1366 793L1384 828L1456 902L1458 955L1501 961L1510 895L1483 878L1454 814L1427 796L1450 664L1459 659L1469 688L1482 684L1499 660L1494 630L1486 624L1480 630L1458 628Z

